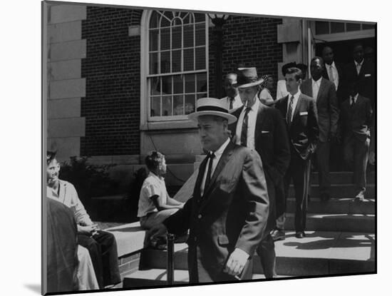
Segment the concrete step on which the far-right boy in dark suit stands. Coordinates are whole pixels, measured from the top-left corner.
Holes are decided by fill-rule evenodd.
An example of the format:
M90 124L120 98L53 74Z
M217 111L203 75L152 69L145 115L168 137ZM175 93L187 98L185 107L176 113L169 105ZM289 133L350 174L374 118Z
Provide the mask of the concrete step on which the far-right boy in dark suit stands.
M295 212L295 199L287 199L287 213ZM308 213L325 214L375 214L375 200L364 200L361 203L354 202L351 198L331 198L321 201L319 198L311 198L308 203Z

